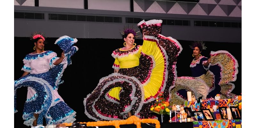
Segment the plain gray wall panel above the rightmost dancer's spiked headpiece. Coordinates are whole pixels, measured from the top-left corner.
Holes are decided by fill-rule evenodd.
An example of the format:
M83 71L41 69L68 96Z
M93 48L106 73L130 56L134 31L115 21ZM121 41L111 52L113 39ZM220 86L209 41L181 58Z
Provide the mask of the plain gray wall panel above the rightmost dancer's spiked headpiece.
M184 27L163 25L162 35L178 40L242 42L241 28Z

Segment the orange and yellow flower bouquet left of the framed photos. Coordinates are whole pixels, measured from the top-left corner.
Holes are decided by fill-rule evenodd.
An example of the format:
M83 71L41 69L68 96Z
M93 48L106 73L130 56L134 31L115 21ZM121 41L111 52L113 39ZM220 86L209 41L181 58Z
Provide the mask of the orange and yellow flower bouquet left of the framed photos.
M150 110L157 114L167 114L170 115L169 102L167 102L163 97L164 92L160 92L157 97L155 97L155 104L150 107Z

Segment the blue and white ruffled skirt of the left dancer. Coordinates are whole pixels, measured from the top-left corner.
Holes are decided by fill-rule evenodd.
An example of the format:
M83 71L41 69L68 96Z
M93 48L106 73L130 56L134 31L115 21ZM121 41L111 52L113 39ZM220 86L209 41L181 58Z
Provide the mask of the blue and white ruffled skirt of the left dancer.
M24 104L23 119L24 124L33 126L33 121L36 119L35 114L38 115L37 124L43 125L43 118L47 124L53 122L67 122L75 121L76 112L71 109L57 92L55 82L60 80L60 72L63 72L63 64L55 66L51 70L41 74L28 74L14 81L14 111L16 110L16 91L18 88L28 86L32 97L29 97ZM33 94L35 93L35 94Z

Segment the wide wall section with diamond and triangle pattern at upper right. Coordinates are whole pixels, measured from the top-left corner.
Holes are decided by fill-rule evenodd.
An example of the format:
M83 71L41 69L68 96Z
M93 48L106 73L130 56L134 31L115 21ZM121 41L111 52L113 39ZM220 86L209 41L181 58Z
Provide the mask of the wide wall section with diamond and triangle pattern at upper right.
M241 2L242 0L200 0L199 3L133 0L133 8L134 12L242 17Z

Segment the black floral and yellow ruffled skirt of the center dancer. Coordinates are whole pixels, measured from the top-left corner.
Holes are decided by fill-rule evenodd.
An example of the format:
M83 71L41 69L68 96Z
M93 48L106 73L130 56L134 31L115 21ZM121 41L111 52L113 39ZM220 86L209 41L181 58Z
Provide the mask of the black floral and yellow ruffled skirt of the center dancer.
M170 100L181 49L171 37L144 38L139 66L121 68L118 73L101 78L84 98L85 114L96 121L124 119L128 112L140 118L155 118L150 106L159 92Z

